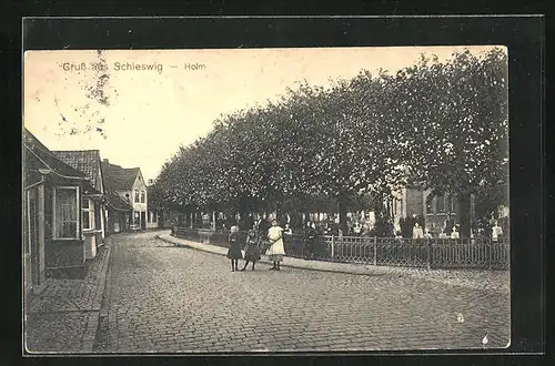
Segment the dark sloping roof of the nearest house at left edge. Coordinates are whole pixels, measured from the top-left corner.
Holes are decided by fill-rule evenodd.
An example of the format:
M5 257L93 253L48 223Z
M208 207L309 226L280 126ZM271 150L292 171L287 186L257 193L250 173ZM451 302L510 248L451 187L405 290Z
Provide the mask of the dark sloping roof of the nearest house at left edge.
M39 169L51 170L54 174L65 179L85 179L87 175L62 162L29 130L23 130L23 145L26 148L26 176L36 175ZM33 173L34 172L34 173ZM27 182L26 182L27 183ZM26 184L27 185L27 184Z

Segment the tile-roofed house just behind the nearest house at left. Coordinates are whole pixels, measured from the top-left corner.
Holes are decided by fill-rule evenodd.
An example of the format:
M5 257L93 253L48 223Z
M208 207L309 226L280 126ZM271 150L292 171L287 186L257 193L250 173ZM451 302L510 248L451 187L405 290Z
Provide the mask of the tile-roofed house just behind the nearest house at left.
M84 151L54 151L58 159L68 165L81 171L90 180L92 186L100 194L89 194L82 201L82 223L84 236L85 260L97 256L97 248L105 240L105 197L104 183L101 170L100 152L98 150Z

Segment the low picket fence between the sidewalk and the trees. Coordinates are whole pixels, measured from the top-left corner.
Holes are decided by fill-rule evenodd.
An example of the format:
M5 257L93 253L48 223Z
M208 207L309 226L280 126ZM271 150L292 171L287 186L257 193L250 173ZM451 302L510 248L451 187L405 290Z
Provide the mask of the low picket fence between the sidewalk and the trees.
M174 227L185 240L228 246L229 232ZM241 243L246 233L240 232ZM317 261L426 268L508 270L509 241L285 235L285 254ZM244 245L244 244L243 244Z

